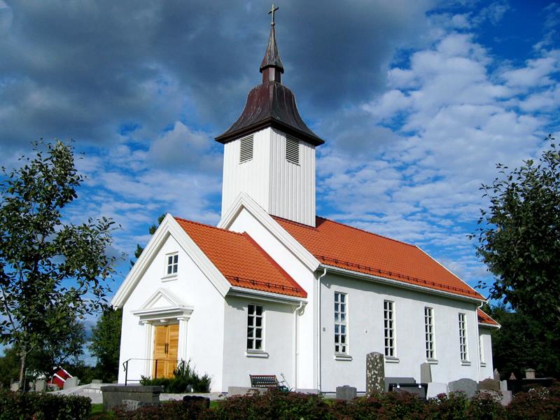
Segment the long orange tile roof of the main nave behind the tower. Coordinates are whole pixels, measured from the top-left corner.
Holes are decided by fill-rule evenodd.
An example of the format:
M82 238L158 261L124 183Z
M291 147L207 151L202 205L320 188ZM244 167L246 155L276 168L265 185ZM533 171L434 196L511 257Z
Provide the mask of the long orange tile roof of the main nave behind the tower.
M417 246L316 218L316 228L272 216L325 265L484 299Z

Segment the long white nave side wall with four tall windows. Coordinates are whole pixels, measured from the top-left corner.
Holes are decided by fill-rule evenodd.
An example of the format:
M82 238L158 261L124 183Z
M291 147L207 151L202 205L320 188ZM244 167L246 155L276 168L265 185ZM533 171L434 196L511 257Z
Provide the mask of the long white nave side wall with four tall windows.
M335 360L334 295L348 297L349 355ZM424 307L433 308L435 351L432 378L449 382L460 378L479 380L477 304L418 293L329 273L321 282L321 388L335 391L349 384L365 391L365 355L384 354L384 300L395 302L395 337L398 363L385 363L387 377L414 377L420 381L420 365L426 362ZM461 364L458 313L466 315L470 365Z

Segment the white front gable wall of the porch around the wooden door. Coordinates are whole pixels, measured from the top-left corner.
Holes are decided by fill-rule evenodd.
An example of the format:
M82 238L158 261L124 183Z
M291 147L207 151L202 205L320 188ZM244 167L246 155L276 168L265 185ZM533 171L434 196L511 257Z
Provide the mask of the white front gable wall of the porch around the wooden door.
M164 276L165 256L174 252L179 253L179 270L175 277L166 279ZM155 253L155 258L146 266L146 271L141 275L139 283L123 307L119 383L125 381L122 369L125 360L153 358L153 328L150 328L149 325L141 325L138 316L134 316L132 311L141 309L144 303L161 288L169 290L170 293L179 297L181 304L194 308L190 319L186 322L186 359L190 358L191 364L199 374L206 372L211 374L212 390L221 391L223 297L172 236L164 241L161 248ZM174 321L171 320L171 322ZM138 380L141 375L151 376L151 374L151 363L141 360L129 362L129 381Z

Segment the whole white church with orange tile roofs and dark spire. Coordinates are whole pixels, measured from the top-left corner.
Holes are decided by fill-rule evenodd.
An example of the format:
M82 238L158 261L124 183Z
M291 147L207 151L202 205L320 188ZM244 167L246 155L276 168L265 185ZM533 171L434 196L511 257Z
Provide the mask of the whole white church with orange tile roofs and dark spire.
M217 227L167 214L112 304L123 308L119 383L190 360L212 391L276 374L290 388L365 391L365 356L387 377L492 377L496 321L476 290L421 248L316 216L315 148L281 84L274 20L262 83L216 138Z

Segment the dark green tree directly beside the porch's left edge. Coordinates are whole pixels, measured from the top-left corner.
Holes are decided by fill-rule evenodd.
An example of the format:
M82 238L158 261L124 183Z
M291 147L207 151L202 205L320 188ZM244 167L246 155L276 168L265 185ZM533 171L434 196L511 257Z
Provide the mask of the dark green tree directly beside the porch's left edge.
M123 309L106 308L92 329L90 351L97 357L97 370L106 382L117 378L120 351L120 328Z

